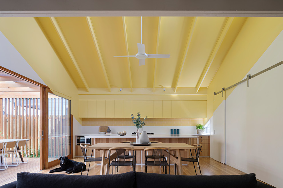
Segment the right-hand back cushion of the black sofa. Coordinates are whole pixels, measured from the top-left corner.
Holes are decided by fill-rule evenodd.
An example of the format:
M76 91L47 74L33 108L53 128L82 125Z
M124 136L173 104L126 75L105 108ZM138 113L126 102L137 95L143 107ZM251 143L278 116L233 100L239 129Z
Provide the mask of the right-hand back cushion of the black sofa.
M136 172L135 185L137 188L156 187L257 187L256 175L165 175Z

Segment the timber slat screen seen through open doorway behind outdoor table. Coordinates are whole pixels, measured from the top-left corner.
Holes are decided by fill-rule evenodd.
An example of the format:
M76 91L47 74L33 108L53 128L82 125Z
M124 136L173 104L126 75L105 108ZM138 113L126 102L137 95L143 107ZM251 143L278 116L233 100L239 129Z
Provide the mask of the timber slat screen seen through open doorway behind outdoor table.
M39 98L0 98L0 139L29 139L28 157L39 157L39 104Z

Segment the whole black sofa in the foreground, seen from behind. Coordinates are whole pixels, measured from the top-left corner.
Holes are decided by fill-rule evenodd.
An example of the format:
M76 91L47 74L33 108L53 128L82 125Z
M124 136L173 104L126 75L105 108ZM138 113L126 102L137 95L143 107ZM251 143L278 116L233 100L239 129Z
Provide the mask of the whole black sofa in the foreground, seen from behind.
M17 181L0 188L78 188L78 187L110 187L110 188L166 188L166 187L271 187L256 181L256 175L166 175L144 172L127 172L116 175L65 175L39 174L21 172Z

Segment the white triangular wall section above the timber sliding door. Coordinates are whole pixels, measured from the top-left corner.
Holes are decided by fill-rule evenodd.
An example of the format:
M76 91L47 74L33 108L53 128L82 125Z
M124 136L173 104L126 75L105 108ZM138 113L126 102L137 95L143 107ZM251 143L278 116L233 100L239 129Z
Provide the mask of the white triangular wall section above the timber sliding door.
M46 85L1 31L0 66Z

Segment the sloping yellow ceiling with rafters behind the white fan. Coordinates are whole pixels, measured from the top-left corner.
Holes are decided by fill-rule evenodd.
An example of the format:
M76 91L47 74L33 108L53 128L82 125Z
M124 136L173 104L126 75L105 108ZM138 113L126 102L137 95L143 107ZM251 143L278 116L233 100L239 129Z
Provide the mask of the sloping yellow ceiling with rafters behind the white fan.
M139 66L134 57L113 56L137 53L140 17L35 18L75 85L87 91L120 87L172 87L177 88L175 91L207 88L246 19L143 17L145 52L170 54L170 58L147 58L146 64Z

